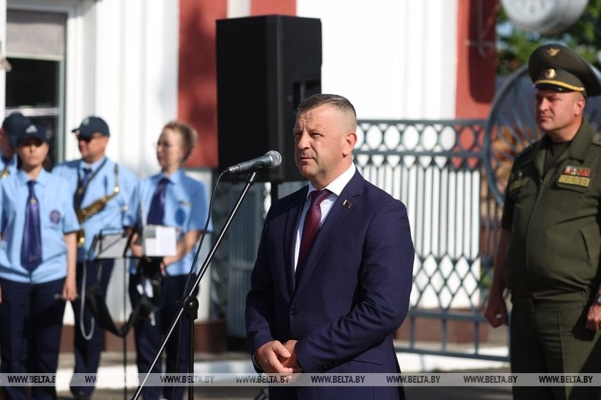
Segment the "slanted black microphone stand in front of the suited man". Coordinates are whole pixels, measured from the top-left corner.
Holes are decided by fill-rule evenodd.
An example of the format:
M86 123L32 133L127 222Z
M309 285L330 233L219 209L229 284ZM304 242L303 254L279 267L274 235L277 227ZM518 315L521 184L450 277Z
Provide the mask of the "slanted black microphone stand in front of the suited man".
M213 247L211 248L211 250L209 250L209 254L207 255L207 258L204 259L204 263L202 263L202 267L200 267L200 270L198 270L198 273L196 274L196 280L194 281L194 284L193 284L191 290L189 291L186 299L184 299L184 302L182 304L180 304L180 311L178 312L178 315L175 317L175 319L173 319L173 322L171 323L169 330L167 330L167 334L165 335L165 338L163 339L161 346L160 346L157 354L155 355L155 359L151 363L149 371L146 372L146 375L144 375L144 379L142 379L142 383L140 383L140 385L135 390L132 400L137 400L140 397L140 394L142 393L142 388L144 388L146 381L148 381L151 371L153 370L154 366L156 365L156 363L158 363L158 361L161 357L161 354L167 344L167 341L169 341L169 338L171 337L173 330L175 330L175 326L178 324L178 321L180 321L180 318L182 317L182 314L184 314L184 312L186 312L186 318L191 319L191 321L190 321L190 350L189 350L190 353L189 353L188 368L189 368L190 373L194 372L194 346L193 346L194 345L194 321L196 318L198 318L198 299L193 295L193 293L194 293L194 290L196 288L198 288L198 285L200 284L200 280L204 276L204 272L207 272L207 268L209 268L209 263L213 259L213 256L215 255L217 248L219 247L223 237L225 236L225 233L227 232L229 226L231 225L231 221L233 220L233 217L236 215L236 212L238 212L238 209L240 208L240 205L242 204L242 200L244 200L250 187L254 184L256 176L257 176L256 170L251 170L251 172L248 174L248 177L246 179L246 184L245 184L244 188L242 188L242 192L240 192L240 197L238 197L238 201L236 202L236 204L233 206L231 212L229 213L229 216L227 217L227 220L225 221L225 224L223 225L221 232L219 232L219 236L217 237L215 243L213 243ZM193 264L196 263L196 260L198 259L198 254L200 254L200 246L196 250ZM188 387L188 399L189 400L194 399L194 387L193 386Z

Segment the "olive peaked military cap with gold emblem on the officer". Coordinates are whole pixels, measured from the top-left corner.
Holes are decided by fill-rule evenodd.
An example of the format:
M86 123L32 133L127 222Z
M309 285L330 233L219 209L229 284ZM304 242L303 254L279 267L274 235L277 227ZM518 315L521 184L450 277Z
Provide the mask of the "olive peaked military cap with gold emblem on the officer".
M560 44L546 44L534 50L528 60L528 72L537 89L601 94L601 83L591 64Z

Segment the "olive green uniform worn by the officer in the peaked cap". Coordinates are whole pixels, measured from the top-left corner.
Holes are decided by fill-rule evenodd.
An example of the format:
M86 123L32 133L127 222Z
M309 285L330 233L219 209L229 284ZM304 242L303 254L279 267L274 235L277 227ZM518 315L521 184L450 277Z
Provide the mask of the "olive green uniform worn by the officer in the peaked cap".
M600 332L584 328L601 280L601 134L584 122L544 172L549 137L515 159L502 226L511 231L513 372L601 372ZM598 388L514 388L515 399L598 399Z

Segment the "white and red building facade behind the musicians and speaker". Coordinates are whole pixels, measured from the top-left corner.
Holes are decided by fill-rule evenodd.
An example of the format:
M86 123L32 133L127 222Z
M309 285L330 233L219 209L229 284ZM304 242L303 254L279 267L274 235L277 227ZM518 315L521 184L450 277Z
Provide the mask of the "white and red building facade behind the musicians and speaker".
M494 78L494 60L476 50L486 51L487 35L494 36L494 23L490 32L486 21L496 3L0 0L0 52L12 64L11 72L0 72L0 112L20 110L44 121L57 162L79 157L70 130L99 115L111 128L108 157L140 178L158 171L153 143L162 126L189 121L199 132L189 173L212 188L218 166L216 19L321 19L322 92L350 99L359 119L476 118L486 117L493 96L494 79L489 86L477 79ZM109 303L122 320L128 309L119 271ZM209 319L209 293L203 283L200 323ZM72 321L66 314L66 324Z

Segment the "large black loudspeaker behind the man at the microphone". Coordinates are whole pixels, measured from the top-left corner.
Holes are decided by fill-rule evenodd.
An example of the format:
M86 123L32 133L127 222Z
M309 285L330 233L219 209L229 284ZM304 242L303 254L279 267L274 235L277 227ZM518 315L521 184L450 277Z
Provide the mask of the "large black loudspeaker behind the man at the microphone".
M292 130L301 100L321 93L321 21L263 15L217 21L219 167L282 154L258 181L299 181ZM248 172L229 175L245 179Z

